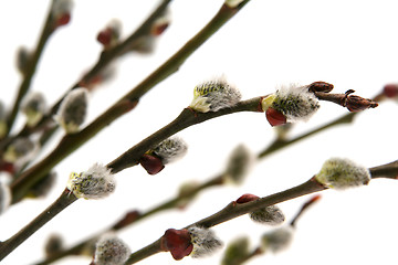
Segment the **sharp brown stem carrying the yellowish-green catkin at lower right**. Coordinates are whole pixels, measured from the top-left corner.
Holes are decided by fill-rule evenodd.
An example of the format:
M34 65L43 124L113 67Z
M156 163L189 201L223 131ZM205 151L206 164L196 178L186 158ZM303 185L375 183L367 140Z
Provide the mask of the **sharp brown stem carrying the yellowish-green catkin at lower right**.
M396 177L398 176L397 163L398 162L395 161L391 163L370 168L369 170L371 172L371 179L377 179L377 178L396 179ZM381 170L381 168L383 168L383 170ZM386 174L386 172L388 172L388 173ZM395 176L395 177L392 177L392 176ZM196 223L192 223L192 224L186 226L185 229L190 227L190 226L212 227L214 225L227 222L234 218L253 212L258 209L266 208L266 206L270 206L270 205L273 205L276 203L281 203L281 202L284 202L287 200L292 200L292 199L295 199L295 198L298 198L302 195L311 194L311 193L323 191L323 190L327 190L327 188L322 186L320 182L317 182L316 179L313 177L308 181L306 181L300 186L296 186L289 190L277 192L277 193L274 193L274 194L271 194L268 197L260 198L255 201L240 203L240 204L233 201L233 202L229 203L221 211L219 211L206 219L202 219ZM160 243L161 243L161 237L159 240L155 241L154 243L151 243L150 245L148 245L137 252L134 252L125 264L134 264L142 259L145 259L146 257L149 257L151 255L155 255L155 254L161 252Z

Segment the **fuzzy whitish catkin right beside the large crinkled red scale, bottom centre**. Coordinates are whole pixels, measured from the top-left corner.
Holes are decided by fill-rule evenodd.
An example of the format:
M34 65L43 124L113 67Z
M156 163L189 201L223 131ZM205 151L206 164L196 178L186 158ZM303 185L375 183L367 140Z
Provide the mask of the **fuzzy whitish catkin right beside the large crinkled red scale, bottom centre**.
M191 226L188 229L191 236L193 250L190 254L191 257L205 257L222 247L222 242L209 229L199 226Z

